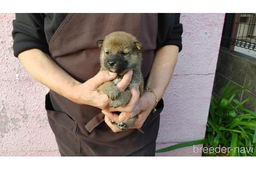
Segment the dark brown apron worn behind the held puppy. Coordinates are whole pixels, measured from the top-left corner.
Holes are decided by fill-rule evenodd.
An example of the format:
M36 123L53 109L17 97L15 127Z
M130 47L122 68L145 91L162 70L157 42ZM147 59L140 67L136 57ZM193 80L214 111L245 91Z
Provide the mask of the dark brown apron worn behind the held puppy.
M49 42L51 58L80 82L99 72L100 49L96 41L114 31L125 31L143 44L142 71L146 82L157 39L156 14L70 13ZM61 87L60 87L61 88ZM50 90L46 110L61 155L67 156L147 156L155 155L160 112L150 113L142 130L114 133L104 122L99 108L79 105Z

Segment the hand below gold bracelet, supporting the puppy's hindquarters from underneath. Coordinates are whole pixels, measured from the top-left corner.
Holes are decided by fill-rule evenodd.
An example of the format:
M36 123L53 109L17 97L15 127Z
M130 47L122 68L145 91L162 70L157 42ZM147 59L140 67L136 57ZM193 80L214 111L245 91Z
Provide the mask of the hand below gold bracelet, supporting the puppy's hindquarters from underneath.
M150 92L145 92L143 96L139 98L138 103L131 112L121 112L120 115L114 114L113 112L107 110L102 110L102 112L105 115L106 124L113 132L118 133L122 132L122 130L119 129L116 124L112 124L111 120L119 123L136 116L134 125L129 129L140 129L154 106L155 96Z

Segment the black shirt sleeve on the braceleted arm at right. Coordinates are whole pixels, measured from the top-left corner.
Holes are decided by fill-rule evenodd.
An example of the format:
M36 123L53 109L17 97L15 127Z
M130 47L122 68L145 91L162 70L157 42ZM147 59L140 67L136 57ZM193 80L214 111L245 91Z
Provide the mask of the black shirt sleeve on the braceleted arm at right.
M182 50L183 25L180 13L158 13L157 49L166 45L175 45Z

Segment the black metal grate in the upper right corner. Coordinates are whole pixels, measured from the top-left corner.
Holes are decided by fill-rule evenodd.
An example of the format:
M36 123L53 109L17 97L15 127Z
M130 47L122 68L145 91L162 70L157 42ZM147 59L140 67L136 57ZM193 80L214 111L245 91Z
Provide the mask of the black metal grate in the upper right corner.
M256 51L256 13L226 13L221 46Z

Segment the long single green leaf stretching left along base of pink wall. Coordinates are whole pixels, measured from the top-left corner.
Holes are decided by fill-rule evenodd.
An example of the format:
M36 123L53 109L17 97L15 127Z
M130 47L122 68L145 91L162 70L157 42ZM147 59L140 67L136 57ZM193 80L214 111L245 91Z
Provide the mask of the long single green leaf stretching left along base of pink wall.
M206 144L207 142L208 142L207 139L187 141L185 143L181 143L181 144L173 145L173 146L170 146L170 147L167 147L167 148L159 149L159 150L156 151L156 153L168 152L168 151L171 151L171 150L174 150L174 149L193 146L193 145Z

